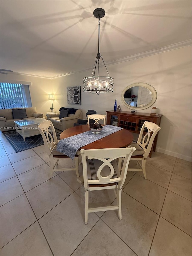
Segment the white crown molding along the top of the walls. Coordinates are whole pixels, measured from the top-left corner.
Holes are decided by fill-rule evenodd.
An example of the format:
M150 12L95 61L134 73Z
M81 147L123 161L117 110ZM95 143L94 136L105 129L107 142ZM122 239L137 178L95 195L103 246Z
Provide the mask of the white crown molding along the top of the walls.
M124 58L121 58L121 59L116 59L116 60L113 60L113 61L110 61L110 62L106 62L105 64L107 66L115 65L115 64L118 64L118 63L122 63L122 62L127 62L127 61L131 61L131 60L134 60L134 59L140 59L140 58L155 55L155 54L158 54L158 53L164 53L164 52L176 50L176 49L179 49L179 48L187 47L187 46L190 46L191 44L192 44L192 40L189 39L189 40L182 41L182 42L179 42L179 43L176 43L176 44L170 44L170 45L162 47L162 48L157 48L155 50L150 50L150 51L146 51L146 52L143 52L143 53L138 53L138 54L134 54L134 55L131 55L131 56L127 56L127 57L124 57ZM101 66L104 66L104 65L101 64ZM78 74L78 73L89 71L89 70L92 70L92 69L93 69L93 67L90 67L90 68L87 68L87 69L83 69L83 70L79 70L79 71L72 71L72 72L69 72L69 73L66 73L66 74L61 74L61 75L54 76L54 77L45 77L45 76L38 76L38 75L24 74L24 73L16 73L16 72L14 72L14 74L31 76L31 77L40 77L40 78L46 78L46 79L55 79L55 78L59 78L59 77L65 77L65 76Z

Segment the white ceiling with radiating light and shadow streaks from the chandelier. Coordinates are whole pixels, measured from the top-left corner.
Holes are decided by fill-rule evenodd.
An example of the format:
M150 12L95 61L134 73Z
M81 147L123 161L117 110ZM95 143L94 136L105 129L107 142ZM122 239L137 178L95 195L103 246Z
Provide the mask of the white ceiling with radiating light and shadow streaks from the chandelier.
M191 1L0 1L0 68L43 77L191 39Z

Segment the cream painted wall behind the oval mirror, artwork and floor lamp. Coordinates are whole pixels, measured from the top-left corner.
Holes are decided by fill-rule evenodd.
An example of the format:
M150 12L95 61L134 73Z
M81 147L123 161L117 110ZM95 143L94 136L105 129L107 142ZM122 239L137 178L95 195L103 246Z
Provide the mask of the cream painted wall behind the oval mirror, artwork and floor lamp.
M115 65L107 65L110 76L114 78L114 92L103 95L83 92L83 77L90 76L91 71L57 79L44 79L22 75L0 75L7 80L30 81L32 106L44 116L51 102L48 94L54 93L54 110L60 107L73 107L82 110L83 118L88 109L106 114L113 110L115 99L121 109L130 111L121 102L121 93L132 83L143 82L152 85L157 91L157 101L153 106L164 116L161 119L156 150L168 155L191 161L191 47L183 47L153 56L148 56ZM81 105L68 105L66 88L81 86ZM153 107L152 106L152 107ZM138 112L150 113L151 108Z

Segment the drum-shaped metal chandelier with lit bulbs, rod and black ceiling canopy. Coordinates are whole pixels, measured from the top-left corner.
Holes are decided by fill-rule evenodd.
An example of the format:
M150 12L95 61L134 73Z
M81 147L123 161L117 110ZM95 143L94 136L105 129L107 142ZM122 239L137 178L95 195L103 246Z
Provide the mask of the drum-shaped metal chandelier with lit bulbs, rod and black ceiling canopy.
M93 15L99 19L99 29L100 29L100 19L103 18L105 16L105 11L102 8L97 8L94 10ZM98 31L99 31L98 29ZM100 31L99 31L100 33ZM100 76L99 75L99 62L100 62L100 58L103 61L103 64L106 68L106 65L104 63L103 57L101 56L101 54L99 53L99 36L98 36L98 54L97 57L95 59L95 64L93 67L93 71L91 74L91 77L85 77L83 78L83 90L84 92L90 92L90 93L97 93L97 95L99 95L100 93L106 93L106 92L113 92L113 78L110 77L107 68L107 76ZM97 72L96 72L97 70ZM95 72L97 74L95 74Z

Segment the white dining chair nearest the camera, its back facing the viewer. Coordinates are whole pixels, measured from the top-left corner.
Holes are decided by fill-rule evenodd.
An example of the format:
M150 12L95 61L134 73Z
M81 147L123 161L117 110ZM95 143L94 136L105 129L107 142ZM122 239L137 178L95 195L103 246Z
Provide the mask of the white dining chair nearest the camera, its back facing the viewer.
M81 149L83 181L85 189L85 224L88 223L89 212L118 210L119 219L122 219L121 194L125 182L129 160L135 151L131 148L114 149ZM116 159L124 158L121 173L118 170ZM116 205L89 208L89 191L114 189Z

